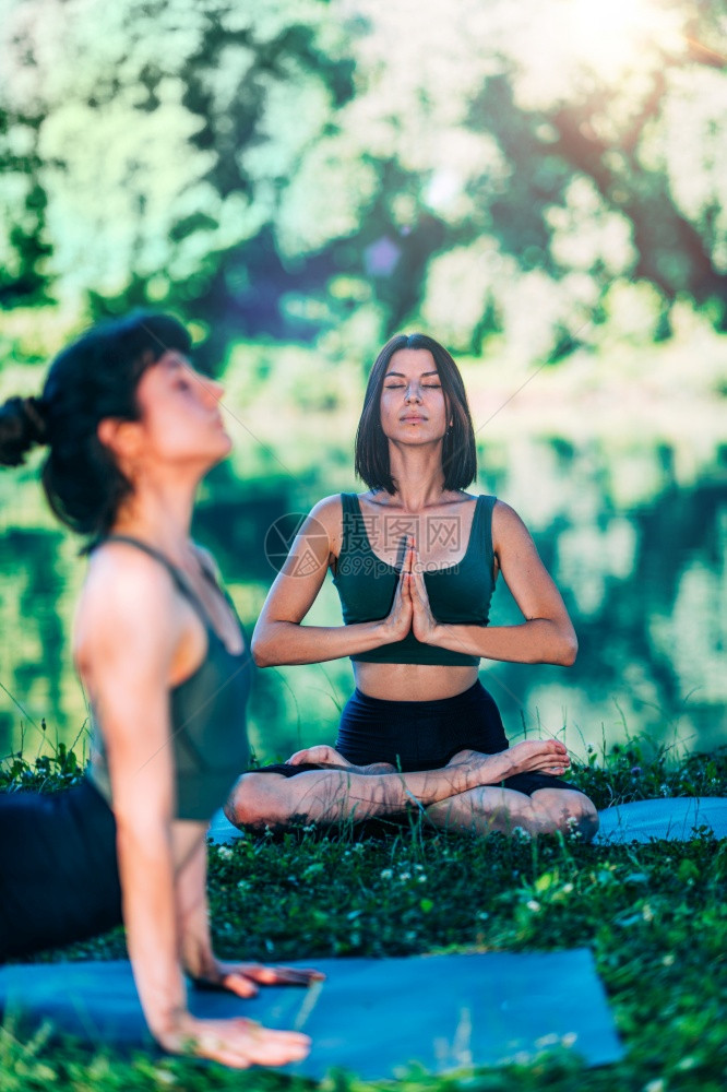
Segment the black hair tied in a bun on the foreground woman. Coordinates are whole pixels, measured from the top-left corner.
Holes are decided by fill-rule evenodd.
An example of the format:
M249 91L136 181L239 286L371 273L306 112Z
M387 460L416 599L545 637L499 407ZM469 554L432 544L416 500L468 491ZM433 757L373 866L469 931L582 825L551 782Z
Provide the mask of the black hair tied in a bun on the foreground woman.
M105 417L138 420L136 387L169 349L188 354L184 327L166 314L136 311L99 323L53 360L39 399L0 406L0 464L17 466L37 443L50 448L43 486L52 511L80 534L111 526L131 483L98 439Z

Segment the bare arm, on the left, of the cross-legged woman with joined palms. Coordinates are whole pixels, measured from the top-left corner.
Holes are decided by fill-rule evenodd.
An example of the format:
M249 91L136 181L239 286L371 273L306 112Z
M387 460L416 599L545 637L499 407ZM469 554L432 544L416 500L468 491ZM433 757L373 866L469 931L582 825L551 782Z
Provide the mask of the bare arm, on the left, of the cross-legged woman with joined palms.
M401 641L412 626L412 606L396 589L388 618L353 626L302 626L321 590L329 565L341 549L343 512L339 497L326 497L312 509L298 532L283 569L263 604L252 633L259 667L317 664Z

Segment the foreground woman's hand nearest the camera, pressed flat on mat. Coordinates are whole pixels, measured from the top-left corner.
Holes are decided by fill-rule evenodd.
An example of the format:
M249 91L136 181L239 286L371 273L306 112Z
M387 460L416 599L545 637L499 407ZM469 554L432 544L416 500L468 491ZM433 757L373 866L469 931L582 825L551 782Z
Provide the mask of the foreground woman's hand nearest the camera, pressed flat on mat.
M179 1012L171 1026L156 1035L159 1044L172 1054L192 1054L212 1058L234 1069L250 1066L284 1066L300 1061L310 1053L308 1035L295 1031L272 1031L253 1020L199 1020L191 1012Z

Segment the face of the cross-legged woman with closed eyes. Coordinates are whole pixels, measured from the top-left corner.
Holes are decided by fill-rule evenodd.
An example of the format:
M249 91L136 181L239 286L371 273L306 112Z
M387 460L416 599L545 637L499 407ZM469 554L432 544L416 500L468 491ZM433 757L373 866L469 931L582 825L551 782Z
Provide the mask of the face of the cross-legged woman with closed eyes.
M381 390L381 427L390 440L431 443L446 432L446 403L428 348L400 348Z

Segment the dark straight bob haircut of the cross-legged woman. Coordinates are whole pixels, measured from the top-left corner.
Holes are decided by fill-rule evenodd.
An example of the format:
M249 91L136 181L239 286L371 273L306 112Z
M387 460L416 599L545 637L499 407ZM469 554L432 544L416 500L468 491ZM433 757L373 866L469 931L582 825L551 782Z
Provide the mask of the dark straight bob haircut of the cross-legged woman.
M381 427L381 391L394 353L402 348L426 348L434 358L444 394L448 428L442 443L445 489L466 489L477 475L475 430L460 369L446 349L427 334L397 334L379 353L364 395L364 410L356 430L356 473L370 489L395 492L389 460L389 440Z

